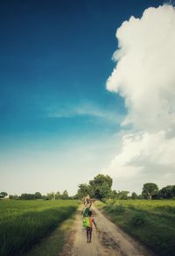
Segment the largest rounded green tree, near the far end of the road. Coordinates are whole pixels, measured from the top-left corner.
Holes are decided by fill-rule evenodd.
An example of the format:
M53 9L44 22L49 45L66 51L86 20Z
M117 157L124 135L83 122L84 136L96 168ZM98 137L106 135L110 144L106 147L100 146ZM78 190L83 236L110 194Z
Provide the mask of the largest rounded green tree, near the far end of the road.
M98 174L94 180L89 181L89 185L97 199L108 198L111 194L112 179L109 175Z

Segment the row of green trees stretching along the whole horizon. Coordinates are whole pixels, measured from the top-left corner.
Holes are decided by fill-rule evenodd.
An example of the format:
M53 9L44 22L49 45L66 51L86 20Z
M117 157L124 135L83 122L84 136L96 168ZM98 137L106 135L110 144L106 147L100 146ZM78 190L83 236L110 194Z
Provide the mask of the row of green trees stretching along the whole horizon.
M21 196L10 195L10 199L20 199L20 200L67 200L67 199L81 199L84 196L90 196L98 200L102 199L175 199L175 185L168 185L164 188L159 189L156 183L148 182L144 183L142 193L137 195L136 192L132 192L130 196L130 191L122 190L116 191L112 190L113 180L109 175L98 174L95 178L87 183L81 183L78 187L78 191L75 196L69 196L66 190L63 193L59 191L54 193L47 193L46 196L42 196L41 193L36 192L35 194L21 194ZM6 192L0 193L0 199L8 196Z

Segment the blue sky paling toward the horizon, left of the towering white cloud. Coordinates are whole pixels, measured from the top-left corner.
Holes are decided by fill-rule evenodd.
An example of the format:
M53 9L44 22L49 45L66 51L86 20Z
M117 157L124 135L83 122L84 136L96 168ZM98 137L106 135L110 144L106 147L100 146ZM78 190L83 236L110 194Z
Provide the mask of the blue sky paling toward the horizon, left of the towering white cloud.
M123 98L106 89L116 29L163 3L1 3L1 190L73 195L108 166L127 114Z

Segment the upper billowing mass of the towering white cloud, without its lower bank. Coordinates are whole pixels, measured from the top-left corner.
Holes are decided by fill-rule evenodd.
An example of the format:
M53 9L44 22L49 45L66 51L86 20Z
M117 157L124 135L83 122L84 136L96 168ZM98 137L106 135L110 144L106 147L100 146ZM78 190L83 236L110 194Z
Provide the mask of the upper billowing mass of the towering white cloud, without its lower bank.
M118 92L129 110L123 124L158 131L175 124L175 10L149 8L116 31L119 49L107 89Z

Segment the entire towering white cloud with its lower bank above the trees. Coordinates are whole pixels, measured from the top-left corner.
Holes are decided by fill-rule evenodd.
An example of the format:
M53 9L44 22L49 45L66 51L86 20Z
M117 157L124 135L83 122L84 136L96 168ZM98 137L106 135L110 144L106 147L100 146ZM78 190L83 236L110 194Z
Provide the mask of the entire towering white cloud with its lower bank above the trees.
M128 109L123 125L132 124L133 129L123 136L121 153L112 160L109 173L121 178L142 176L143 181L147 177L161 182L165 177L171 183L175 176L174 7L149 8L142 18L131 17L117 29L116 38L116 68L107 89L123 96Z

